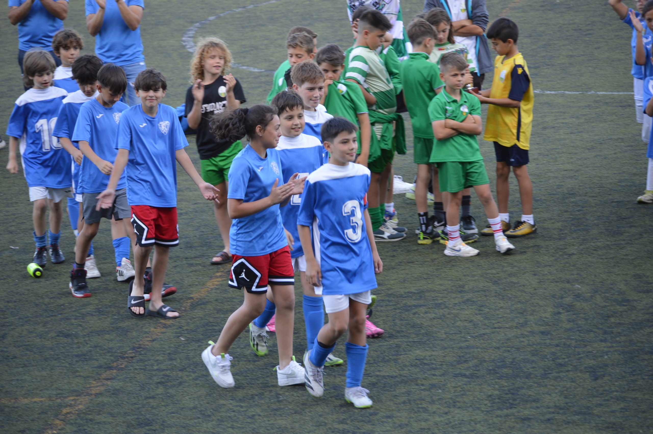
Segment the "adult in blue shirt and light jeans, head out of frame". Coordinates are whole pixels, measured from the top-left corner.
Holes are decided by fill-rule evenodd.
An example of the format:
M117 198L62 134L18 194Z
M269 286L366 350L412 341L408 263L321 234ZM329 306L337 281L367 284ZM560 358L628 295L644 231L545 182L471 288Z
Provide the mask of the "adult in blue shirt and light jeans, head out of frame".
M127 75L127 102L140 104L134 90L138 72L146 69L140 20L143 0L86 0L86 28L95 37L95 54L118 65ZM124 97L124 95L123 95Z

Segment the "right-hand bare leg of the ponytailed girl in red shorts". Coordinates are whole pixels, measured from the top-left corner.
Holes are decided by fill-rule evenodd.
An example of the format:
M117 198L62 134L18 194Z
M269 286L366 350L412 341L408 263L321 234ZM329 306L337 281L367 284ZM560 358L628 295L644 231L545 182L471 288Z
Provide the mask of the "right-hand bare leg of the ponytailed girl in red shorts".
M293 360L293 333L295 332L295 286L272 285L276 305L276 335L279 352L279 369Z

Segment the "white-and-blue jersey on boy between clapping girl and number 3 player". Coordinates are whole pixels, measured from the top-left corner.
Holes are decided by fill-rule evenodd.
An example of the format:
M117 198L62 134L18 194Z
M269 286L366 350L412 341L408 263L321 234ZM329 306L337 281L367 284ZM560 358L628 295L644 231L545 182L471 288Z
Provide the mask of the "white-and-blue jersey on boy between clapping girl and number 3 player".
M296 137L281 136L276 149L279 151L279 158L281 159L283 183L288 182L290 177L296 173L299 174L298 178L304 178L304 176L308 176L328 162L327 149L317 138L308 134L300 134ZM279 181L279 184L281 184L281 181ZM231 185L229 188L231 188ZM294 250L290 252L291 258L304 255L297 232L297 214L301 202L302 195L294 194L288 204L281 208L283 227L295 239Z

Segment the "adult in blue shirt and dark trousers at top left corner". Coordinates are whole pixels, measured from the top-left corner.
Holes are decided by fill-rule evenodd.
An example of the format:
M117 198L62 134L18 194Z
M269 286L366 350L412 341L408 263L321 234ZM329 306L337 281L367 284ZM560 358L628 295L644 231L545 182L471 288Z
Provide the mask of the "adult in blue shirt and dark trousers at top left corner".
M23 74L25 52L32 48L50 52L57 67L61 65L61 60L52 51L52 38L63 29L63 20L68 15L68 0L8 0L8 3L9 22L18 25L20 74Z

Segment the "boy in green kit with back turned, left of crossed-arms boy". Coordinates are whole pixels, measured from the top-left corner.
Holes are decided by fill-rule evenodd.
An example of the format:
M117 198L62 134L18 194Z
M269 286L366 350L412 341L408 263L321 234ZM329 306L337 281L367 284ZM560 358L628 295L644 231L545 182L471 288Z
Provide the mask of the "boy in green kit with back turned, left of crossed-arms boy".
M400 74L404 82L404 98L413 123L413 159L417 164L415 203L419 218L417 243L430 244L438 234L428 224L428 183L433 176L433 190L438 194L438 172L430 163L433 150L433 127L428 117L428 105L436 97L441 86L438 65L428 61L436 38L436 32L428 22L417 18L408 25L408 39L413 52L402 62ZM441 202L441 199L438 201Z

